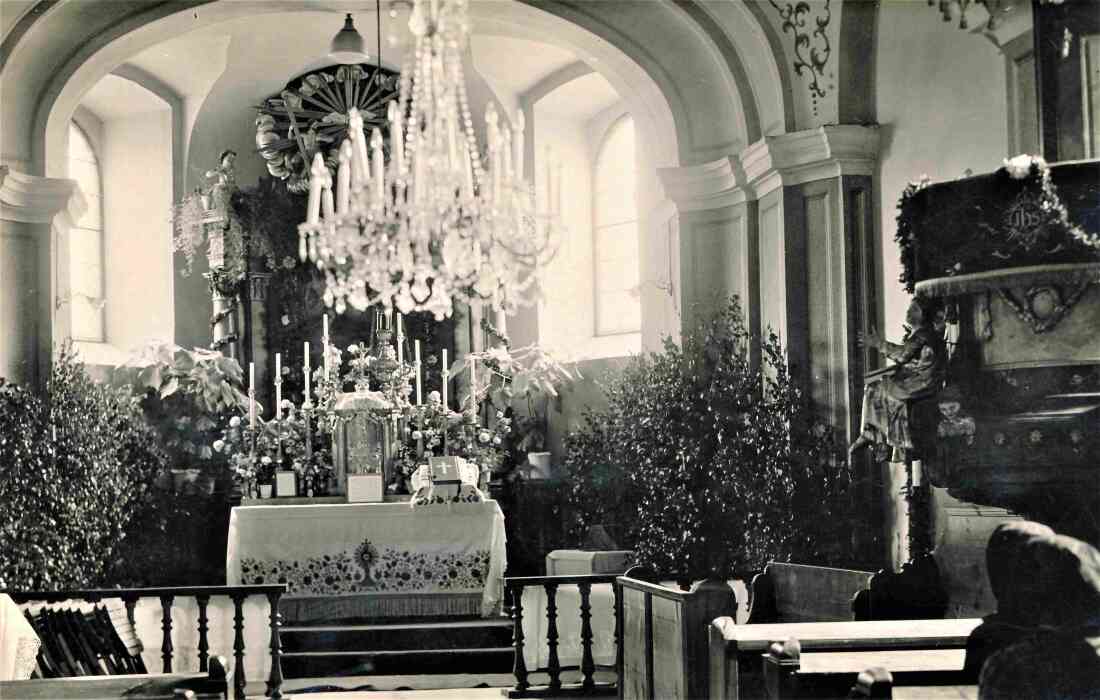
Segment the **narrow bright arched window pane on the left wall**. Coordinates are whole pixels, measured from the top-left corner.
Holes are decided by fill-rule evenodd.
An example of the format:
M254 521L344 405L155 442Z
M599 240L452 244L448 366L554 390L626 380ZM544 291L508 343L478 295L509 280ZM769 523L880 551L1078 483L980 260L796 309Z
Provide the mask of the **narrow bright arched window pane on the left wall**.
M103 329L103 184L99 158L84 130L69 122L69 177L88 205L69 233L69 292L73 338L107 340Z

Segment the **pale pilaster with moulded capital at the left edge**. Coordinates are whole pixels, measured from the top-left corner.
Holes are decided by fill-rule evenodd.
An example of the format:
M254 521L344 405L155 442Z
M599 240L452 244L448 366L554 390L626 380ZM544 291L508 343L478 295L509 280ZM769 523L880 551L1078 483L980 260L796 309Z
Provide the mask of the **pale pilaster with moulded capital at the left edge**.
M67 241L84 209L74 181L0 165L0 376L44 381L68 337Z

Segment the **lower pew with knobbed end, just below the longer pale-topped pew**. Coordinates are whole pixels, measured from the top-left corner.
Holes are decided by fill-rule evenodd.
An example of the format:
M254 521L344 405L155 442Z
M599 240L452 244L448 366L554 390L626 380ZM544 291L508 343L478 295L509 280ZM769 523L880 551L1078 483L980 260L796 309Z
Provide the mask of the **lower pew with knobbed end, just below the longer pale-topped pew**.
M966 650L958 648L803 653L798 639L789 639L772 643L762 664L769 700L803 700L846 698L854 682L856 697L882 697L895 686L946 686L957 692L975 680L963 671L965 658Z

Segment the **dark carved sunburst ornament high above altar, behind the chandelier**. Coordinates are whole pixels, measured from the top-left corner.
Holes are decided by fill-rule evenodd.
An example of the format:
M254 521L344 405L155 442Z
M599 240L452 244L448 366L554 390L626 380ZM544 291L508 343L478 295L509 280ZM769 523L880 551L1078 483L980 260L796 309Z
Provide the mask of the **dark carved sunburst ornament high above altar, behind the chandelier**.
M267 172L292 192L309 189L309 168L320 153L336 171L338 146L348 134L348 113L359 110L369 128L386 122L399 74L378 66L330 66L287 84L256 107L256 151Z

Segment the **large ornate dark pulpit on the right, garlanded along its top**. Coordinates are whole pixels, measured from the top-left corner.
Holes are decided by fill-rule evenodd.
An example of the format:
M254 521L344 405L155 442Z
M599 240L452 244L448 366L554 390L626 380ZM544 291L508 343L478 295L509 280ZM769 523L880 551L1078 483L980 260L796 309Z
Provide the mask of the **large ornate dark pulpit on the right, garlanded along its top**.
M923 460L955 613L988 612L980 551L999 521L1100 542L1098 201L1100 162L1031 156L903 201L906 282L957 317Z

